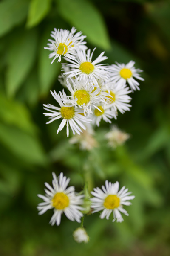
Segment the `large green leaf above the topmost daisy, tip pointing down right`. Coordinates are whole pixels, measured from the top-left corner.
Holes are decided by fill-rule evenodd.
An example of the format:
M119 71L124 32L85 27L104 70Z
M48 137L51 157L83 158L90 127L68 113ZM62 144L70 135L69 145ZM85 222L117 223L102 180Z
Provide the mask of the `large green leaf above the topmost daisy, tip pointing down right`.
M86 0L57 0L59 14L71 26L87 35L87 40L95 46L110 49L111 44L102 15L96 7Z

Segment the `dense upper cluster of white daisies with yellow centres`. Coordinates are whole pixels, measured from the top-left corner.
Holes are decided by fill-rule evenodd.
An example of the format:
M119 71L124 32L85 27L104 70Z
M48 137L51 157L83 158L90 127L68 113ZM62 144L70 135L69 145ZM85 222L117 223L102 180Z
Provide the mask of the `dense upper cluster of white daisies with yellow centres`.
M129 93L139 90L139 82L136 79L144 80L139 76L142 72L134 67L135 62L128 64L101 64L108 59L102 52L96 59L93 58L94 49L87 49L86 36L82 32L76 33L72 28L71 32L63 29L54 29L49 39L50 43L45 49L52 51L49 58L53 61L58 58L61 61L63 56L67 63L62 63L62 74L59 81L63 87L67 88L69 95L63 89L56 93L51 91L52 96L58 102L59 107L51 104L44 105L48 113L45 116L50 118L50 122L62 119L57 130L57 134L64 126L67 126L67 136L69 136L69 126L75 135L86 130L83 123L99 126L103 119L111 123L111 119L117 119L118 113L130 111L131 97ZM51 62L51 64L53 63Z

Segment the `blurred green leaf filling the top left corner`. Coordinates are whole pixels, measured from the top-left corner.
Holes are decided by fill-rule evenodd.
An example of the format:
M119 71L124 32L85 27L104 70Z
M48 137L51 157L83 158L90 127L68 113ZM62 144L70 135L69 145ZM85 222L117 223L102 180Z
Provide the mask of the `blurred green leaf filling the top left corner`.
M0 36L6 34L26 18L27 0L3 0L0 2Z

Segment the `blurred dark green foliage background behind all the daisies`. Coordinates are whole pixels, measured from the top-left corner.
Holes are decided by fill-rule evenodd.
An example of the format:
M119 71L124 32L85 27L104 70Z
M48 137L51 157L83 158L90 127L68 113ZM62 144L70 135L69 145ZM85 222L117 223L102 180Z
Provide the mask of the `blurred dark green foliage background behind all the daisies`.
M115 151L107 146L106 123L96 129L100 147L90 152L70 145L59 121L45 125L42 104L55 104L60 64L43 47L51 30L75 26L88 47L105 50L108 63L136 61L141 90L131 94L131 111L116 124L131 134ZM170 2L165 0L0 1L0 255L169 256L170 255ZM90 186L119 180L136 198L124 222L85 218L90 236L76 244L79 224L52 210L37 214L44 182L62 171L80 191L82 172Z

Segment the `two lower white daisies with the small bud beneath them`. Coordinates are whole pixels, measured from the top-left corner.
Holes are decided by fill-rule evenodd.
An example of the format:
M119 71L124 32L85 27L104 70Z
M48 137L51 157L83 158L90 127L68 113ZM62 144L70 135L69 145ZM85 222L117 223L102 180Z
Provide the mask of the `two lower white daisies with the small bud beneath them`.
M59 177L52 173L53 180L51 187L48 183L45 183L47 189L45 189L45 195L38 195L44 202L38 204L37 209L40 211L39 215L45 213L48 209L54 209L54 214L50 220L50 224L53 226L55 223L59 226L61 222L61 215L64 212L66 217L71 221L81 222L83 217L82 211L85 210L84 200L85 197L82 193L76 193L74 186L67 188L70 178L63 176L61 172ZM129 200L135 198L130 195L132 192L128 192L125 186L119 190L119 182L116 183L105 181L105 186L102 189L94 188L94 192L91 194L94 196L90 198L92 213L102 211L100 218L109 218L113 212L113 221L122 222L123 218L120 212L128 215L127 211L123 208L123 205L130 205ZM79 238L78 238L79 236ZM77 242L88 242L89 238L85 230L78 229L74 233L74 239Z

